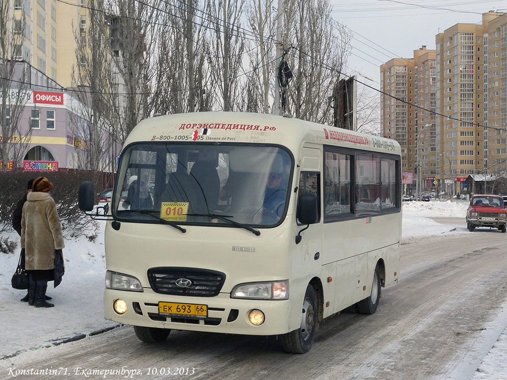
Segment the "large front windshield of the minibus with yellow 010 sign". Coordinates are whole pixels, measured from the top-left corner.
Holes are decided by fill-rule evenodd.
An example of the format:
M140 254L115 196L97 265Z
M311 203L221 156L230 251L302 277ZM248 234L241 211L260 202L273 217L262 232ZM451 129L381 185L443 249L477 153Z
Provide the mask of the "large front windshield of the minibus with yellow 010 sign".
M293 157L270 145L138 143L122 154L113 213L123 221L274 226Z

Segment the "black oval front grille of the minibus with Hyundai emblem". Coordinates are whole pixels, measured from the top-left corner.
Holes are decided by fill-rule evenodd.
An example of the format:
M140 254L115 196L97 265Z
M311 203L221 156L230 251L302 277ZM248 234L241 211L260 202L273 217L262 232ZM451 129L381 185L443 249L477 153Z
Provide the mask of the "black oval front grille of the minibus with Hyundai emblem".
M176 285L180 279L190 280L191 285L188 287ZM148 281L156 293L214 297L220 293L224 285L225 274L199 268L158 267L148 270Z

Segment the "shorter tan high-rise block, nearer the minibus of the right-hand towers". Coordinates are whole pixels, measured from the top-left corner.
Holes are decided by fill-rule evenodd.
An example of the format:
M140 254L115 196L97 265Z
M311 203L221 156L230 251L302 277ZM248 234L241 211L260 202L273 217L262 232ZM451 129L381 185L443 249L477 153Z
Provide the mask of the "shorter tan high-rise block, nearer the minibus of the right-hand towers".
M380 67L380 78L382 134L402 147L402 171L412 173L406 176L412 178L407 194L415 192L417 175L421 188L423 182L431 188L437 154L435 51L422 46L413 58L391 59Z

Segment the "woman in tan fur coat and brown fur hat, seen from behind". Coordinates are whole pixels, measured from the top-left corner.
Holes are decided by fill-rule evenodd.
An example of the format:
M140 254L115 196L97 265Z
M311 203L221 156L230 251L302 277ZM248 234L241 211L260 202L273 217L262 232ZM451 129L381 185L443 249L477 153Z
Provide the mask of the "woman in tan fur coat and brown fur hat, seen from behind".
M21 216L21 248L25 269L30 273L28 305L52 308L46 301L48 281L54 280L55 250L65 247L56 204L49 192L53 184L46 177L35 178Z

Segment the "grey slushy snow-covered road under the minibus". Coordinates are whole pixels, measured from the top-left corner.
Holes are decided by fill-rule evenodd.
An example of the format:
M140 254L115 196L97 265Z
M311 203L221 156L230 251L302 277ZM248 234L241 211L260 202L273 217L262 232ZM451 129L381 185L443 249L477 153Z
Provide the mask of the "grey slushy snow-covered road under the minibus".
M141 344L130 327L120 327L22 353L1 363L0 374L12 379L9 367L61 367L60 376L85 378L76 368L124 367L143 379L469 379L505 327L507 316L499 312L507 299L505 238L476 230L403 244L400 283L383 289L377 313L328 319L305 355L285 354L274 337L185 331L172 331L161 345ZM189 374L167 375L167 368Z

